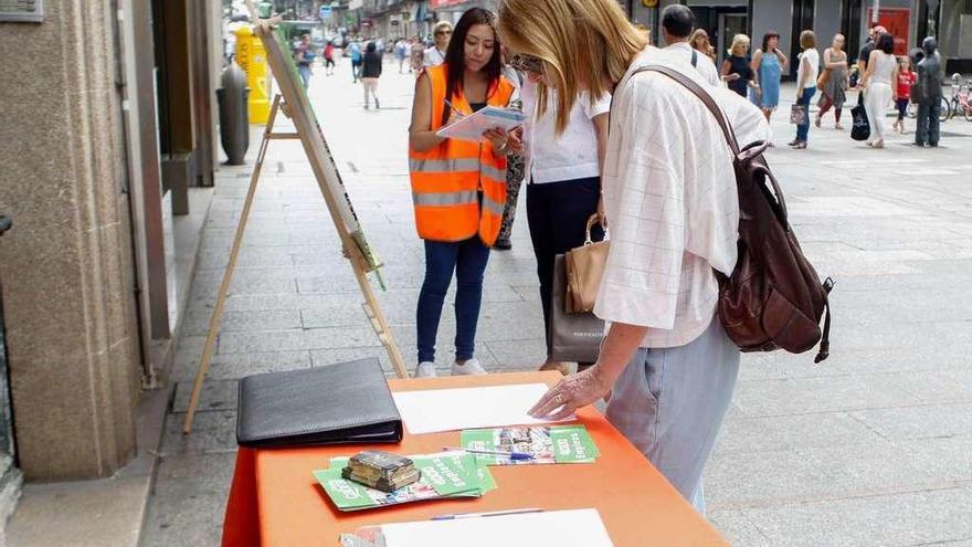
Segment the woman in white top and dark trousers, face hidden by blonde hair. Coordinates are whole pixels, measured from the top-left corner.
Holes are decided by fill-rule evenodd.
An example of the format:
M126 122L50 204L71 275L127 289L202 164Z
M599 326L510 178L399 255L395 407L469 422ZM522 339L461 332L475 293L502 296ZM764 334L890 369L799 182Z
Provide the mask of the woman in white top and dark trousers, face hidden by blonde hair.
M553 259L583 245L587 221L600 211L601 160L608 145L611 94L604 92L591 101L589 92L578 93L566 125L558 127L557 90L550 86L542 63L514 57L511 64L526 75L520 97L527 113L527 221L537 256L547 333L547 360L540 369L566 372L566 365L554 361L550 351ZM595 227L591 235L601 241L604 231Z

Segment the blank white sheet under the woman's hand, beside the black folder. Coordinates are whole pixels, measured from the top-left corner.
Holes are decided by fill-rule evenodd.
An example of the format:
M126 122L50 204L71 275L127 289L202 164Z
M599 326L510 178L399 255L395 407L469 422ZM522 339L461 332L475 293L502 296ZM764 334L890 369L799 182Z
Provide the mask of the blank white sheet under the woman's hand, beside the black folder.
M430 389L392 393L412 434L550 423L527 413L547 392L545 383ZM574 420L568 417L561 421Z

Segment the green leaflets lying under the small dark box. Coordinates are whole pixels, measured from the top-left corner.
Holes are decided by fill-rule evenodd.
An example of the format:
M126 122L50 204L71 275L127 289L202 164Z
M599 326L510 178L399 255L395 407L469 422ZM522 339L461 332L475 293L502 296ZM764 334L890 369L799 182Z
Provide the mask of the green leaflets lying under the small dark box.
M348 457L335 457L330 467L314 471L314 477L339 511L360 511L444 497L479 497L496 488L485 462L462 451L409 456L422 477L393 492L370 488L341 476Z

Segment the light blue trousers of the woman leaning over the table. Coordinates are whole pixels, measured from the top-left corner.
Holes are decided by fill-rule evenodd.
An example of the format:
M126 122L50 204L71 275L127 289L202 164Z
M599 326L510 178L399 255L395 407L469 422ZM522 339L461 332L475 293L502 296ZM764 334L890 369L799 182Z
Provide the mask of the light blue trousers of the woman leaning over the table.
M608 403L608 420L701 515L702 470L732 400L739 358L715 317L685 346L638 349Z

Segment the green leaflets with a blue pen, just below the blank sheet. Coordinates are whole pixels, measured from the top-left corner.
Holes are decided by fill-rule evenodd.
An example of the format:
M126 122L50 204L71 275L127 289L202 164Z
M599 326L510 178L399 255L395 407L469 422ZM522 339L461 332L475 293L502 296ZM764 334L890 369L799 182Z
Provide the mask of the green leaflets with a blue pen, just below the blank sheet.
M476 460L486 465L593 463L601 455L582 424L472 429L463 431L459 439L462 448L466 450L530 456L513 460L501 455L475 454Z

